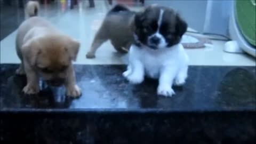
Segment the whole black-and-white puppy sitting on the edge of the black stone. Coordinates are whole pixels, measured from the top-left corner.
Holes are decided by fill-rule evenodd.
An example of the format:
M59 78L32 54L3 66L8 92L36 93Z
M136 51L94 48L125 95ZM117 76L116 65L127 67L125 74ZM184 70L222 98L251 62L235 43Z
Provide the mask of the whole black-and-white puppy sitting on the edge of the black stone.
M180 44L187 23L169 7L151 5L134 17L134 43L129 51L129 65L123 76L133 84L145 75L158 78L158 95L171 97L172 85L185 83L188 55Z

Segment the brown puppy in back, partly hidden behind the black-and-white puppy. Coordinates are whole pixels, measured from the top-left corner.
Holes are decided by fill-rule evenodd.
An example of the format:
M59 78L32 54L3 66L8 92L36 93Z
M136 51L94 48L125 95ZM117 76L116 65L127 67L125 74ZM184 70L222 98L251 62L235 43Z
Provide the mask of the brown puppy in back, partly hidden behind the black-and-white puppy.
M133 19L135 12L122 5L116 5L103 20L100 29L94 37L91 49L86 58L95 58L95 52L102 43L110 40L114 48L121 53L127 53L133 39Z

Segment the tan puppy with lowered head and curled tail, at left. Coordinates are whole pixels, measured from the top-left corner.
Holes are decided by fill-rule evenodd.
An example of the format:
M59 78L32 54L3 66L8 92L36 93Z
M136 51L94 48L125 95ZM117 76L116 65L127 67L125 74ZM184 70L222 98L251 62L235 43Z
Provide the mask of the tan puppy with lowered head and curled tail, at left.
M79 42L62 34L50 22L33 17L38 12L37 2L28 2L26 17L16 37L16 50L21 60L16 74L27 76L25 94L39 92L39 76L52 86L65 85L66 94L78 97L81 90L76 84L72 61L76 60Z

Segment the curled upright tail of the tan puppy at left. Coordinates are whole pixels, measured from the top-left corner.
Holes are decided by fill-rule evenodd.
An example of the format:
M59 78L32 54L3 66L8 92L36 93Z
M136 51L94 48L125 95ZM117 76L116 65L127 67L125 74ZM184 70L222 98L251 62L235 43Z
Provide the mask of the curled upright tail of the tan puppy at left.
M25 17L35 17L38 15L39 3L37 1L28 1L25 9Z

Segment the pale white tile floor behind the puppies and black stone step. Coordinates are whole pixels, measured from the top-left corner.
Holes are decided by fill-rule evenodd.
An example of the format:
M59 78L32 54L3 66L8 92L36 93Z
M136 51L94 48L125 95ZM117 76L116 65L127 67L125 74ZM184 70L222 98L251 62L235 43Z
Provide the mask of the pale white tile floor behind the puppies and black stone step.
M122 64L124 56L115 52L113 46L106 42L97 51L95 59L86 59L85 54L90 49L95 31L100 26L109 6L104 1L95 1L96 7L90 9L87 3L82 2L73 10L52 10L51 7L43 6L41 16L45 17L66 34L81 42L77 64ZM60 5L60 4L59 4ZM61 5L60 5L61 7ZM54 11L54 12L53 12ZM15 36L17 31L1 41L1 63L19 63L20 60L15 52ZM255 59L247 54L234 54L223 52L223 41L212 41L211 47L205 49L186 50L190 65L199 66L255 66Z

